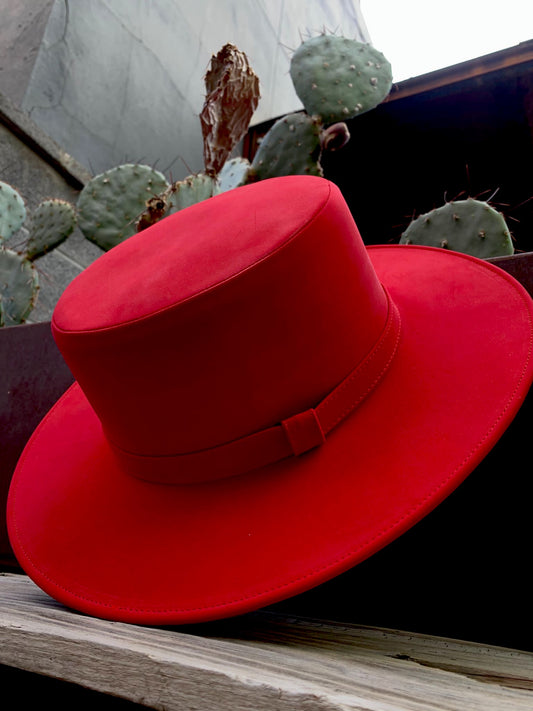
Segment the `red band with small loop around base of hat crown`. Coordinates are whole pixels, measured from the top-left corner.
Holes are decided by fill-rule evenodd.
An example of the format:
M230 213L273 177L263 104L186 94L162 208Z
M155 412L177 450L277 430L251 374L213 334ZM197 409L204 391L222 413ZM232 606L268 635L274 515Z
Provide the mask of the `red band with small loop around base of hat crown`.
M385 290L388 315L366 357L314 408L280 424L208 449L171 455L127 452L113 442L121 467L132 476L160 484L191 484L244 474L319 447L326 436L377 387L400 340L400 314Z

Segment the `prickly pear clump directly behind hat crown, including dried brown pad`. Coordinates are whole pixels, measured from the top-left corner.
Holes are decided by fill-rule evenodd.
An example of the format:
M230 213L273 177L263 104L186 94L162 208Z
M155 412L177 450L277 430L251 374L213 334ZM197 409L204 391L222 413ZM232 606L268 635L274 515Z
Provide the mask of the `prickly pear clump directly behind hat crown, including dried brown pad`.
M291 76L308 113L279 119L252 165L230 159L257 107L259 80L246 55L232 44L224 45L212 56L205 76L200 115L205 170L172 184L152 168L133 164L97 175L78 199L83 234L107 250L165 215L239 185L279 175L322 176L322 151L338 150L350 138L342 121L373 108L391 85L390 65L380 52L332 35L304 42L292 58ZM318 108L304 98L306 86L312 98L318 97ZM324 126L332 121L334 126Z

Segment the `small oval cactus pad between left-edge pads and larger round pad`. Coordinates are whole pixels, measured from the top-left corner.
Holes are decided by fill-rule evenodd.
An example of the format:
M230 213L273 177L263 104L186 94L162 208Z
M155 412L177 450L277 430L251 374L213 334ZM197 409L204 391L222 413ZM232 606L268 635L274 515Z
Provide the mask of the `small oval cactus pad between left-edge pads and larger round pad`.
M64 242L76 226L76 210L66 200L41 202L31 215L28 259L36 259Z

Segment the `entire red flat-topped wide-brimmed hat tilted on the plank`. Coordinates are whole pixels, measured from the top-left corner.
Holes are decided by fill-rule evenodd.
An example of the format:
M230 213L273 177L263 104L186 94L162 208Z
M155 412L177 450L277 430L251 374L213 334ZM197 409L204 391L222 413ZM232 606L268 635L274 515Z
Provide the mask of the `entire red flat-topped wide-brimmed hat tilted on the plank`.
M68 606L149 624L318 585L420 520L495 444L533 378L532 317L487 262L365 248L321 178L168 217L55 309L77 382L13 477L18 560Z

